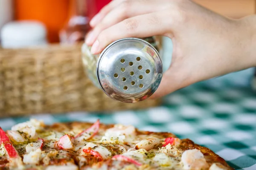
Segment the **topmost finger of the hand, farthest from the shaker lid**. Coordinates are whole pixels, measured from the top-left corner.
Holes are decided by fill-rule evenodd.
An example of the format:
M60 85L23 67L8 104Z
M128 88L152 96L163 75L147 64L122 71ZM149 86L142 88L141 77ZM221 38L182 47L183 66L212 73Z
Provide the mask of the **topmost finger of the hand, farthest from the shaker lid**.
M90 21L90 26L95 27L98 23L102 21L102 19L105 17L108 12L110 12L113 8L118 6L120 3L122 3L125 0L112 0L108 5L104 6L98 14L96 14L92 20Z

